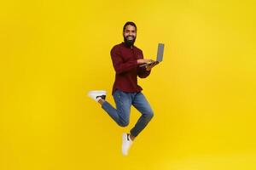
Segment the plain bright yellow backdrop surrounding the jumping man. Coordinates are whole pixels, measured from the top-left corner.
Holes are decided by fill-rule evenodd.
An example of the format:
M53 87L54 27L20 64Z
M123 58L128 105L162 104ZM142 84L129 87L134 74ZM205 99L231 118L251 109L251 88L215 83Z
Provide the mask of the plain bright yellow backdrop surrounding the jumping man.
M253 0L1 1L0 169L256 169ZM154 119L129 156L86 94L111 88L125 21L164 61L139 80Z

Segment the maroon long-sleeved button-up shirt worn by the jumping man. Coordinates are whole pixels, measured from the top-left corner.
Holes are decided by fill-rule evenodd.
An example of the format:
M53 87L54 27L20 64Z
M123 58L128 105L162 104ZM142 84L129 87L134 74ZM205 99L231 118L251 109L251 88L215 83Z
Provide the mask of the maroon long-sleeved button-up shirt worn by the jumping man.
M148 77L150 71L137 65L137 59L143 59L143 51L135 46L128 48L119 43L111 49L111 59L115 71L112 94L116 89L126 93L137 93L143 90L137 85L137 76Z

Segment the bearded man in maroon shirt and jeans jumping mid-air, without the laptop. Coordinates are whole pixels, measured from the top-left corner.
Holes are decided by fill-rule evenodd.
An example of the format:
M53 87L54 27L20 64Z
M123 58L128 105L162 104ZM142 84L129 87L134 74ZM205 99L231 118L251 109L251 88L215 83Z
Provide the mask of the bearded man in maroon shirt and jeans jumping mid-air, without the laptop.
M115 70L112 94L116 109L105 100L106 91L90 91L88 95L101 104L102 109L107 111L108 115L120 127L126 127L129 124L131 105L142 113L130 133L123 133L122 135L122 153L126 156L134 139L154 116L147 99L141 92L143 88L137 85L137 77L148 77L151 69L157 63L139 67L139 65L148 63L151 59L143 59L143 51L134 46L137 37L135 23L125 23L123 37L124 42L115 45L110 53Z

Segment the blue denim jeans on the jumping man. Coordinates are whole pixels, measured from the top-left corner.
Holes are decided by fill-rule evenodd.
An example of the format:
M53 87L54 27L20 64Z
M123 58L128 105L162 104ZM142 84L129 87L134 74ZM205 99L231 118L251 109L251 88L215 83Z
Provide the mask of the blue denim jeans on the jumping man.
M111 116L113 121L120 127L126 127L129 124L131 105L133 105L137 111L142 113L142 116L138 119L135 127L130 131L131 135L136 137L143 131L154 116L147 99L141 92L125 93L120 90L116 90L113 93L113 99L115 101L116 109L113 108L108 101L103 102L102 109L107 111L108 115Z

